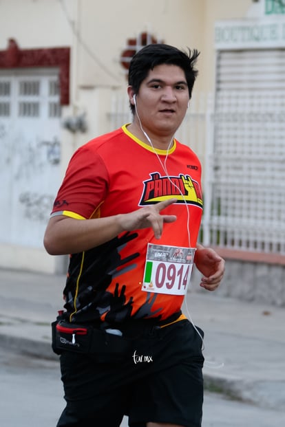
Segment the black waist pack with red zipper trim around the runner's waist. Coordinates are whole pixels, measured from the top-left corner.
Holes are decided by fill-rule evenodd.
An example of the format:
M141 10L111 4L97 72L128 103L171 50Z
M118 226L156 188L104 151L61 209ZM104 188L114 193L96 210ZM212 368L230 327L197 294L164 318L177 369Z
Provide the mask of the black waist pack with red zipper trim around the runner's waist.
M105 329L56 320L52 322L52 349L56 354L74 351L100 355L103 359L108 356L120 358L129 354L131 342L122 336L107 333Z

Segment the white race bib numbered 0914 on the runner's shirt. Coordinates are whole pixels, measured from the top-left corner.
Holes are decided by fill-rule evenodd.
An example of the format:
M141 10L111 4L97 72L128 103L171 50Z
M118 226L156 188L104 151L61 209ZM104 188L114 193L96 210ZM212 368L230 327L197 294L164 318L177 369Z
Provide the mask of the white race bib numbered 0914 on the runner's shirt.
M147 245L142 291L184 295L191 278L196 248Z

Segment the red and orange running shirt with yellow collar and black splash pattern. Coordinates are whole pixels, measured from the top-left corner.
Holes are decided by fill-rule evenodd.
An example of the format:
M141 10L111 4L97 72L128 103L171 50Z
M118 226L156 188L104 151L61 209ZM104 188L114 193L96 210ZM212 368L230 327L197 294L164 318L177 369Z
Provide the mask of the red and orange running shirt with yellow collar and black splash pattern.
M165 223L159 240L145 228L72 254L64 290L71 321L163 320L180 310L183 296L142 290L147 244L189 247L190 237L191 247L196 246L202 217L200 179L200 162L189 147L174 140L169 151L154 153L129 133L127 125L74 153L52 215L109 217L174 197L176 203L162 213L176 215L177 220Z

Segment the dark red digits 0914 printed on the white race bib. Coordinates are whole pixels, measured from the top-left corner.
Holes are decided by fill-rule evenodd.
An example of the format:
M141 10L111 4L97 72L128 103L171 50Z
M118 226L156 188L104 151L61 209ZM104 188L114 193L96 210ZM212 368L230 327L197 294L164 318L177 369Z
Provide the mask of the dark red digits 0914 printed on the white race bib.
M188 283L188 275L189 275L189 264L176 265L176 264L169 264L169 263L159 263L156 266L154 284L158 288L161 288L165 285L167 289L172 289L172 287L176 285L176 288L178 290L180 290L181 287L184 287L185 289Z

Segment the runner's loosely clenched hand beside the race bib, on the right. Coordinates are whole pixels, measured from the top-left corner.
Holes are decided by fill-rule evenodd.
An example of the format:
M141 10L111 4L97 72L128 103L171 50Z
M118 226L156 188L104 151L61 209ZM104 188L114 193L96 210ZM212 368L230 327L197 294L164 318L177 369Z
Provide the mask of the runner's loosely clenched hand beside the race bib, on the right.
M208 291L214 291L220 285L224 276L224 259L213 249L197 246L195 264L203 274L200 286Z

